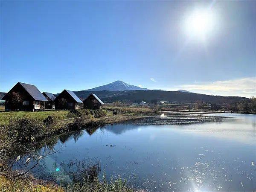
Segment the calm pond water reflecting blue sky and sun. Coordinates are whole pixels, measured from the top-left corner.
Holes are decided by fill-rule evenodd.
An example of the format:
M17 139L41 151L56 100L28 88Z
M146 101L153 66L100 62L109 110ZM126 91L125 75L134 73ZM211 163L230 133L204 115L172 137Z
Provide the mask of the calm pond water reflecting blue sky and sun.
M165 115L61 136L48 164L94 158L108 177L136 175L147 191L255 190L255 115Z

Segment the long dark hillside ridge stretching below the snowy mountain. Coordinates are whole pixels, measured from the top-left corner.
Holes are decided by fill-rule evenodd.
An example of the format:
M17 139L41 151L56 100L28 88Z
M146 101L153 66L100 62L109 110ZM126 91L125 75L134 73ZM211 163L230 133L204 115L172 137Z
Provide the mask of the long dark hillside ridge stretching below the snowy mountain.
M245 97L225 97L225 96L210 96L198 93L184 93L180 91L159 91L159 90L133 90L133 91L77 91L76 95L82 99L87 98L90 93L95 93L103 102L116 101L145 101L150 102L152 99L157 101L169 102L195 102L205 101L217 104L225 102L239 102Z

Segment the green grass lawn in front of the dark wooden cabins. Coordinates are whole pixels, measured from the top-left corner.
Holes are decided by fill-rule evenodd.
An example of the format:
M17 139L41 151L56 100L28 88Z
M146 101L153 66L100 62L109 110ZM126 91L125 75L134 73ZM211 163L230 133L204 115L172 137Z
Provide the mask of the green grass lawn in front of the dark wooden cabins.
M56 116L59 120L66 119L66 115L69 111L40 111L40 112L0 112L0 126L6 126L11 118L23 118L25 117L37 117L39 119L45 119L49 115Z

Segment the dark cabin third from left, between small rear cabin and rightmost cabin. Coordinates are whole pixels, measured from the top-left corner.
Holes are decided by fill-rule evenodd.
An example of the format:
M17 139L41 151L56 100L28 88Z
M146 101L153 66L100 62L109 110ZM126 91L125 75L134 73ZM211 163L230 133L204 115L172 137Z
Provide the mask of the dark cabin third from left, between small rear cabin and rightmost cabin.
M81 109L83 102L73 91L64 89L55 99L55 109Z

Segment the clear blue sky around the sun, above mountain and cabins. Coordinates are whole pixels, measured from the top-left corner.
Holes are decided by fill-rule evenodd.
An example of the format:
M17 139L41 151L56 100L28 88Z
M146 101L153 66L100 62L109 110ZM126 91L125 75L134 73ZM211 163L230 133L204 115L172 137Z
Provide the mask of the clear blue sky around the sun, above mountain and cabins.
M17 81L59 93L122 80L149 89L255 95L255 1L0 3L1 92ZM204 38L186 27L195 9L213 13Z

